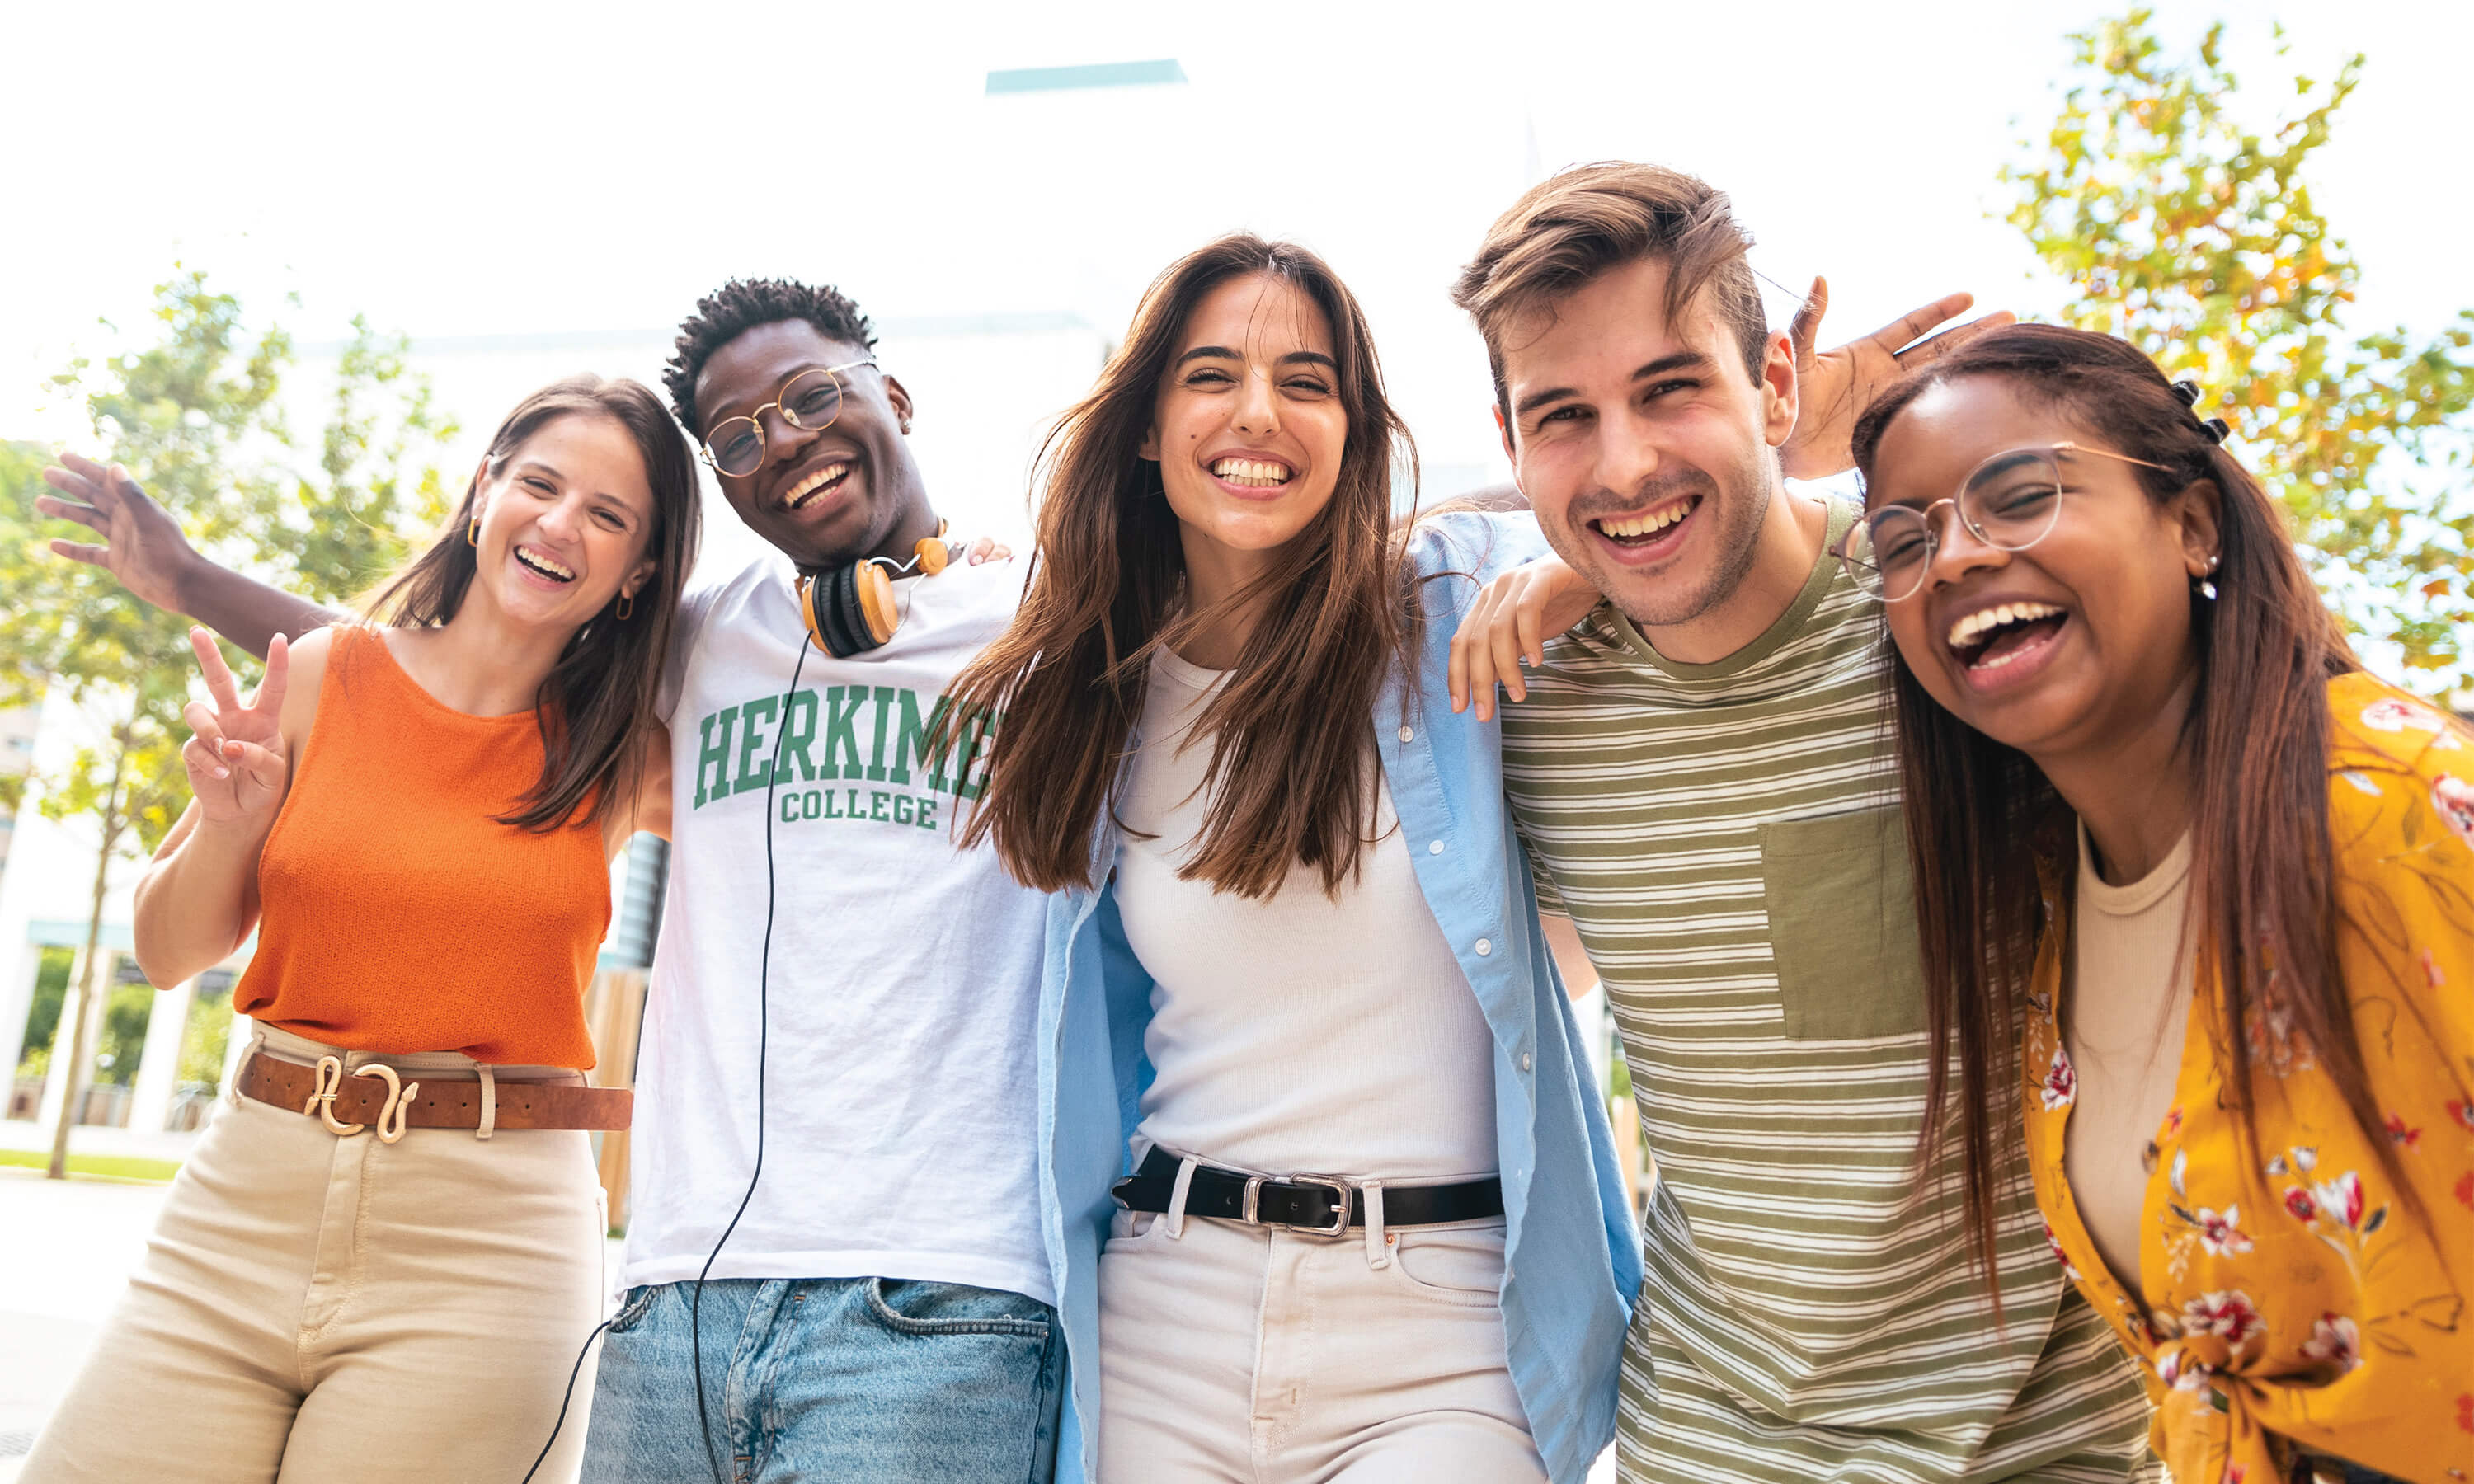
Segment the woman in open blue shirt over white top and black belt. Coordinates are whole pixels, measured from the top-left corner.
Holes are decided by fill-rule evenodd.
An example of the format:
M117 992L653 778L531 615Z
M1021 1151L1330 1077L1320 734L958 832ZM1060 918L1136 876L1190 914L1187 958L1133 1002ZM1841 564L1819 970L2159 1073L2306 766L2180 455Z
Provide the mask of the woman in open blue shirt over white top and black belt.
M1477 556L1393 529L1400 453L1321 260L1188 255L1059 425L1022 618L957 683L1004 715L970 836L1101 950L1059 955L1051 913L1133 1153L1098 1259L1108 1484L1578 1479L1611 1437L1635 1237L1492 737L1440 752L1482 732L1415 690L1452 631L1427 594L1477 591L1425 579Z

